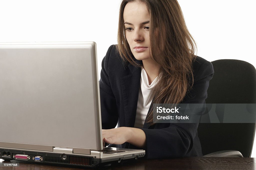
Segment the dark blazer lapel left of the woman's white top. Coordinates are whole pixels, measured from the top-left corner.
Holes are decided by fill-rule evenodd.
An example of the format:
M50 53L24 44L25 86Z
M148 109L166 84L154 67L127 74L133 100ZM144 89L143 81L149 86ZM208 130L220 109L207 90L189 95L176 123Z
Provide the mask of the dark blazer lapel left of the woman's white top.
M121 77L124 102L125 126L134 127L138 95L140 89L141 68L128 65L131 74Z

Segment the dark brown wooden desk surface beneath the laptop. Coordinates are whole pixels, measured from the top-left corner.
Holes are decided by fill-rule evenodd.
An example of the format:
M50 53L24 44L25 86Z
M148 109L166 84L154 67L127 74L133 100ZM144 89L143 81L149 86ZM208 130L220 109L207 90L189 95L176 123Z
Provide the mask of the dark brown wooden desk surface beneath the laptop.
M0 160L0 163L3 160ZM50 165L39 165L19 162L19 167L9 167L2 169L80 169L68 168ZM109 167L100 167L98 169L256 169L256 158L209 158L209 157L186 157L173 158L165 160L134 160L131 162L117 163ZM5 162L10 163L10 162ZM0 168L1 169L1 168ZM97 168L96 168L97 169Z

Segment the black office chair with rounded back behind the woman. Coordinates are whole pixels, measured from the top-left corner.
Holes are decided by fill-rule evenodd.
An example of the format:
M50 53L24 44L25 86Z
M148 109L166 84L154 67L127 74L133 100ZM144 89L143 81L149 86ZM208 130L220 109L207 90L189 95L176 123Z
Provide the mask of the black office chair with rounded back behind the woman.
M213 61L212 65L214 76L209 83L206 103L256 103L256 70L252 64L223 59ZM215 112L223 122L223 112ZM251 112L255 117L255 107ZM201 117L206 117L201 122L209 122L206 121L209 117ZM198 126L204 156L250 157L254 135L255 123L199 123Z

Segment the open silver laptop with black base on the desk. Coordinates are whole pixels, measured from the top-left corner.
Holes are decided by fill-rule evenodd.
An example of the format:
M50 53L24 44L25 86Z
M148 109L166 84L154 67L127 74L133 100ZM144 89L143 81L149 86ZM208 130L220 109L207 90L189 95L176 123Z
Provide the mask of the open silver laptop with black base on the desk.
M145 150L103 147L95 42L0 43L0 159L95 167Z

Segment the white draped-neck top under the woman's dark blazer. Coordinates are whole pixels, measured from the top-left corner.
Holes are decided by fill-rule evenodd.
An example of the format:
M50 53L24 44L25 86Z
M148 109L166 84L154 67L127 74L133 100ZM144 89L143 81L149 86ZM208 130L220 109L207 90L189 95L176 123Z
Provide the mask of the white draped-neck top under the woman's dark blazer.
M147 73L143 67L141 68L141 88L139 91L134 127L142 128L144 125L148 110L153 99L152 90L156 84L156 80L157 77L149 85Z

